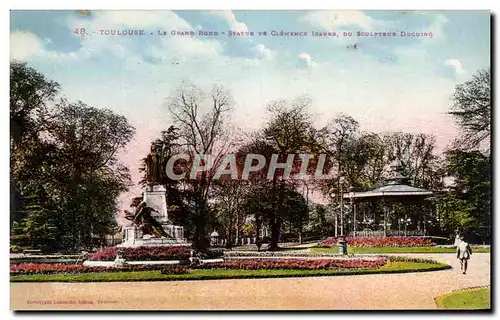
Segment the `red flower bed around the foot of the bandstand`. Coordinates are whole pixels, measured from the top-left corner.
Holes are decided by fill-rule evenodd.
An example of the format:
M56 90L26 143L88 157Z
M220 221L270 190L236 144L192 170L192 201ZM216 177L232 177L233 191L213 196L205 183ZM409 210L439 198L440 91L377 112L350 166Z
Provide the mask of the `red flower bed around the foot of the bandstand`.
M329 237L319 243L321 247L336 247L341 238ZM351 247L427 247L436 245L422 237L346 237Z

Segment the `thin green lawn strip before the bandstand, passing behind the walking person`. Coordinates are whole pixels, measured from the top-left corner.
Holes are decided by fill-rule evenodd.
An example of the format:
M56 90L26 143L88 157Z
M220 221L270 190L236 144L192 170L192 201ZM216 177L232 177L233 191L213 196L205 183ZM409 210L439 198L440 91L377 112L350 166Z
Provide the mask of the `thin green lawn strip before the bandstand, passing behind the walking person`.
M313 252L337 253L338 248L311 248ZM455 248L442 247L347 247L348 253L455 253ZM474 253L488 253L489 248L473 248Z

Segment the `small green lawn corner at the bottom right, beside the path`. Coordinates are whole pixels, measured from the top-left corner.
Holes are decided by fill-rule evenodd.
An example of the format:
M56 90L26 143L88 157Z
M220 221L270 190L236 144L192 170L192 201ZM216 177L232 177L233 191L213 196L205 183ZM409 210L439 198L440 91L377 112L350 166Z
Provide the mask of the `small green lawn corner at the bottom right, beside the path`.
M490 287L456 291L436 298L440 308L445 309L490 309Z

